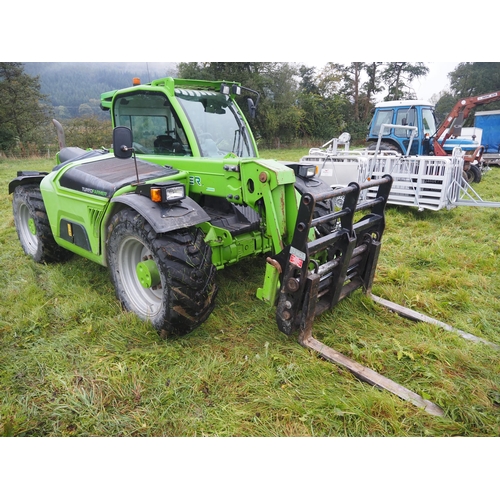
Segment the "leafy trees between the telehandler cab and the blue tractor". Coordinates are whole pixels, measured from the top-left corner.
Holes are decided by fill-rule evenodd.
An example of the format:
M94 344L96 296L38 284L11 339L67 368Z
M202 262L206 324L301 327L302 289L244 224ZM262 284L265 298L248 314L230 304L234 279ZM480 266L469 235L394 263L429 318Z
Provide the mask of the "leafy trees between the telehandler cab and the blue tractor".
M415 98L411 82L428 73L424 63L327 63L319 70L296 63L190 62L177 67L181 78L231 80L257 90L254 133L271 147L295 139L321 142L348 131L366 135L377 94L386 100Z

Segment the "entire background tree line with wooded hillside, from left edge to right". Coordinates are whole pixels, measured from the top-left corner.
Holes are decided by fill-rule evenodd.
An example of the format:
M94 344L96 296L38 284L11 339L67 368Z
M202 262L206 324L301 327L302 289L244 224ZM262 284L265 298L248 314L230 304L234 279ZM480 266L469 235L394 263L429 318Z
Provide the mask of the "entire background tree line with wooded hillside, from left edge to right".
M55 143L51 118L63 123L68 145L108 147L111 124L108 113L99 109L100 93L129 86L134 73L123 67L115 71L93 67L86 70L85 78L69 76L72 83L66 80L67 92L78 97L73 101L77 104L68 107L55 97L64 87L50 83L47 72L44 89L53 94L42 92L34 64L30 63L28 74L23 63L0 63L0 152L45 153L47 145ZM363 143L374 103L415 99L412 84L429 69L422 62L330 62L322 68L278 62L183 62L170 71L170 75L148 71L141 75L142 81L161 76L226 80L258 91L258 112L251 122L254 134L261 145L282 147L297 140L319 145L342 132ZM500 89L500 63L459 63L449 81L450 88L432 99L441 119L458 98Z

